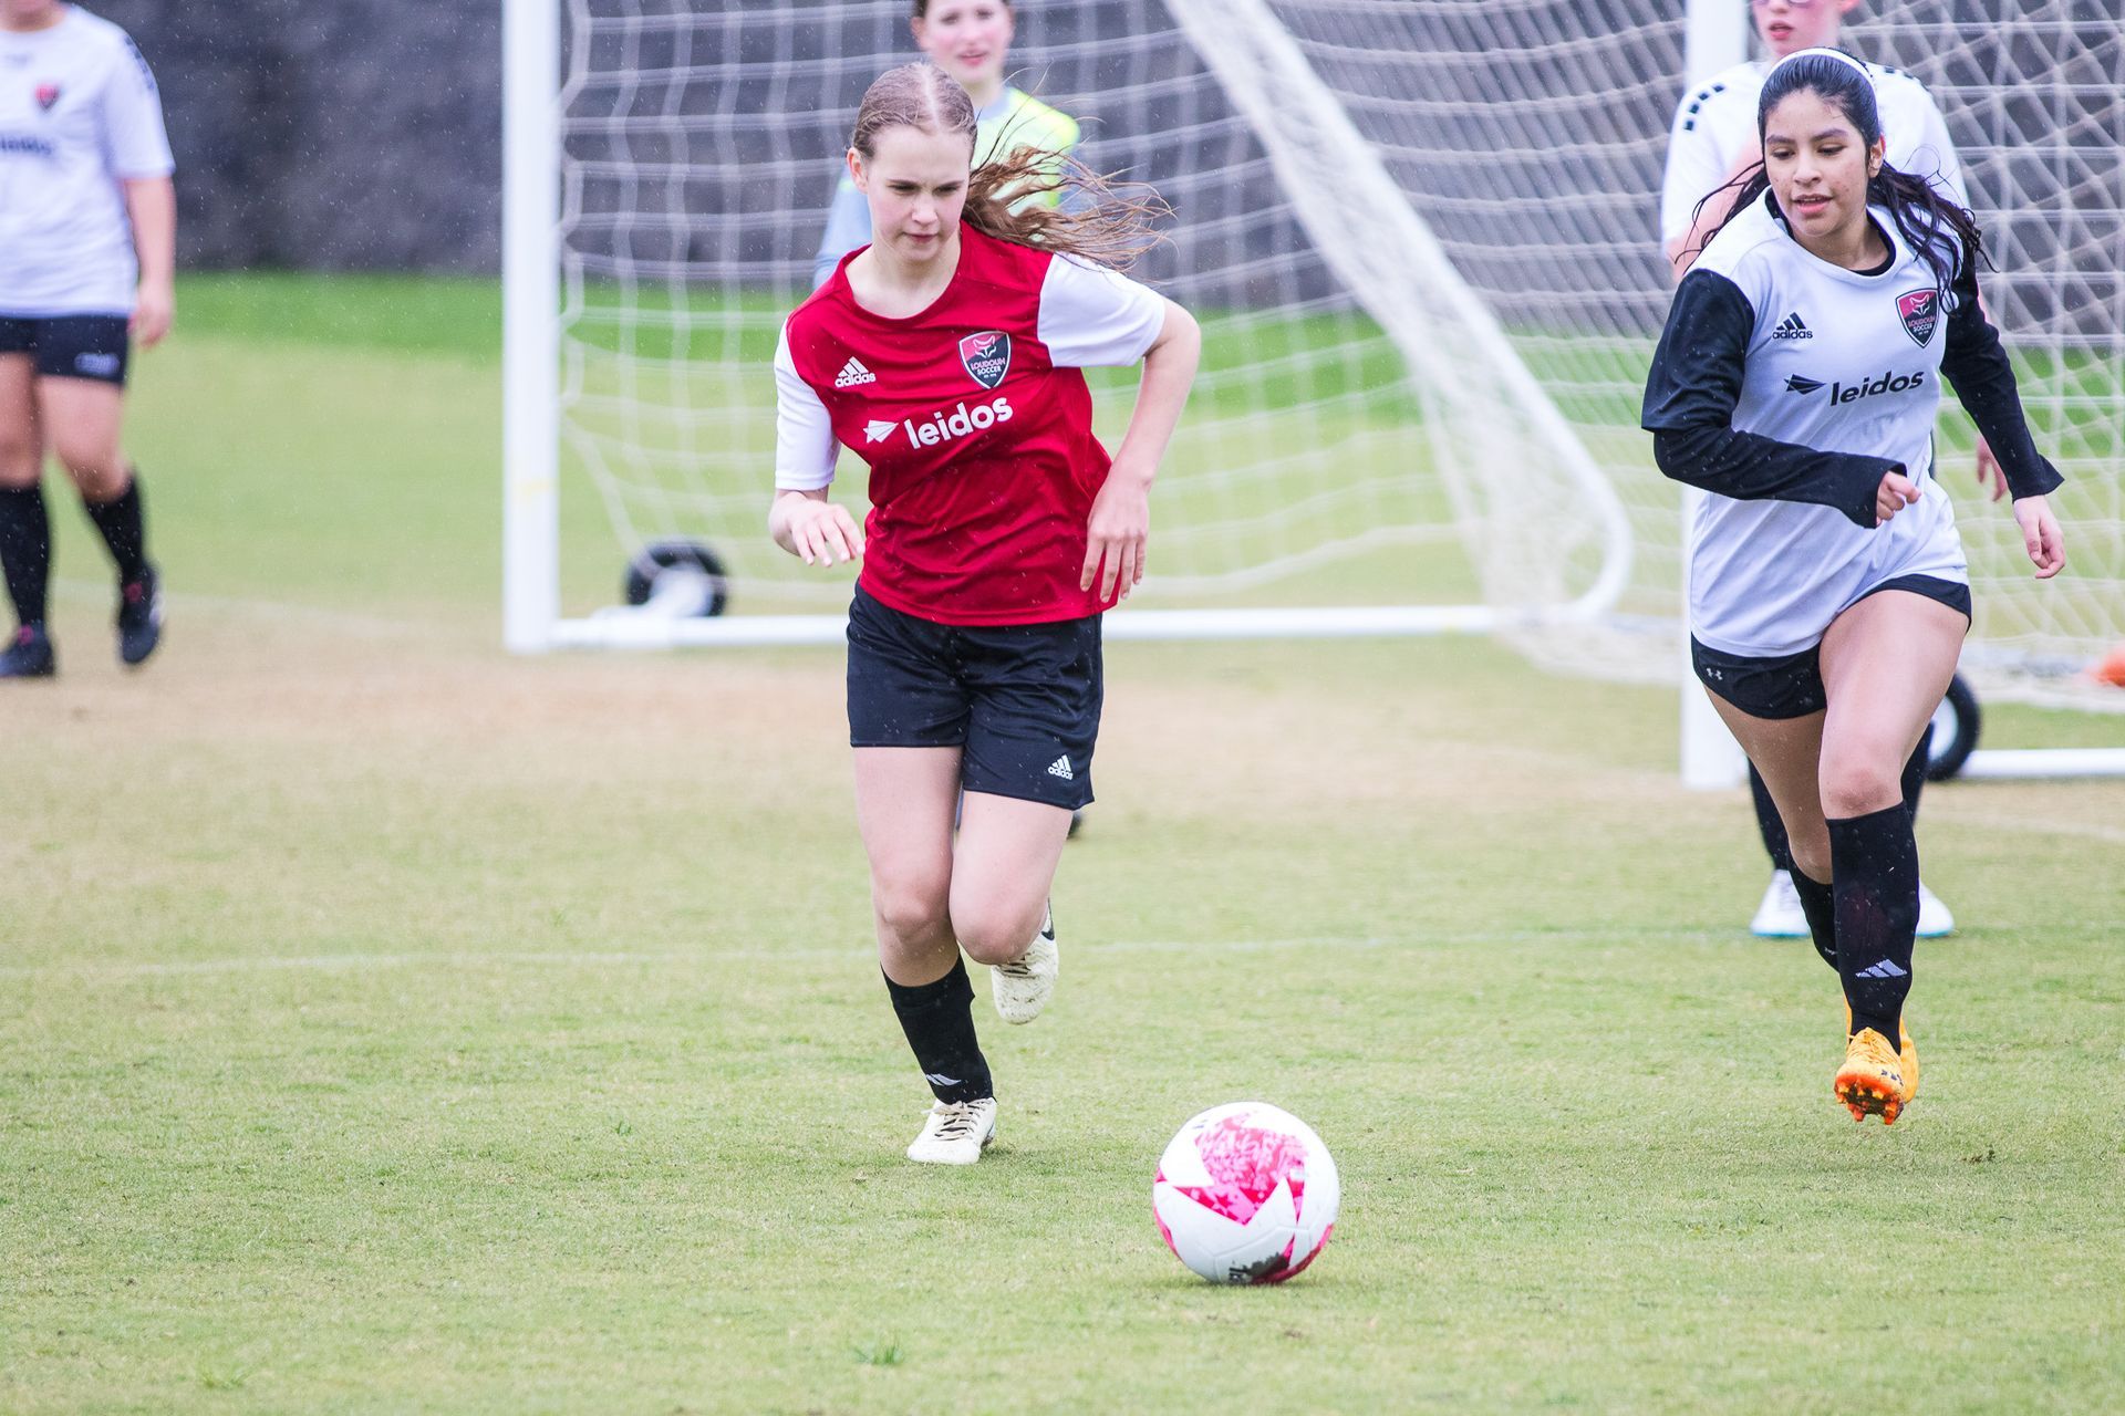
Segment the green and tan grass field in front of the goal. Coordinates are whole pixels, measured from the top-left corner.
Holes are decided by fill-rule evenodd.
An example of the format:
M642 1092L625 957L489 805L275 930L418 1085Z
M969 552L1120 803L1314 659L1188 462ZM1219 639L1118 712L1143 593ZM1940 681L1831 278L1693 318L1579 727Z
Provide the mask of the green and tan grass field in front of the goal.
M0 1410L2125 1403L2125 783L1930 792L1964 930L1919 949L1925 1091L1855 1127L1672 692L1116 645L1056 1006L984 1030L988 1159L918 1170L839 656L504 656L491 310L181 291L140 675L53 499L62 677L0 694ZM1345 1185L1273 1291L1150 1216L1247 1095Z

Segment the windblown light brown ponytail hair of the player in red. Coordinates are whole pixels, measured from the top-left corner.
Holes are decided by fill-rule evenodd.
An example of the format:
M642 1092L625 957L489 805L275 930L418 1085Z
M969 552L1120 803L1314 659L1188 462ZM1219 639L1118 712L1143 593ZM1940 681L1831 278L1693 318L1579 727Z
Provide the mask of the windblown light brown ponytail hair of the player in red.
M865 89L848 146L876 161L878 134L888 127L963 134L969 153L978 140L967 89L926 59L888 68ZM1173 208L1150 187L1114 183L1067 153L1007 146L997 142L997 155L967 178L960 221L982 236L1060 251L1111 270L1128 270L1164 240L1152 223L1171 217ZM1069 200L1050 204L1050 195Z

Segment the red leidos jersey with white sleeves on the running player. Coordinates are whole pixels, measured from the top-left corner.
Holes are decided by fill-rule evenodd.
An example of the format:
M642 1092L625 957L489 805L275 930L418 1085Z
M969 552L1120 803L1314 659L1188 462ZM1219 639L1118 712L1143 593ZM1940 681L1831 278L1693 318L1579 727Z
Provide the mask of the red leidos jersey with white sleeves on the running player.
M926 310L856 304L848 261L782 327L776 486L833 482L837 444L871 465L861 584L937 624L1099 614L1080 590L1107 480L1082 367L1137 363L1164 327L1150 289L963 225Z

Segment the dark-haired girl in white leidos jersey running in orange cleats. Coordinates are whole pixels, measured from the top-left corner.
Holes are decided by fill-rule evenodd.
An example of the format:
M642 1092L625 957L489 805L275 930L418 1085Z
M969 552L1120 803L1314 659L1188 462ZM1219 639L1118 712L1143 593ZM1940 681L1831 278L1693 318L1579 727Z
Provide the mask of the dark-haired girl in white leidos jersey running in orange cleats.
M1866 66L1781 59L1757 136L1762 168L1677 287L1643 422L1662 471L1711 493L1692 550L1698 677L1770 788L1844 983L1834 1091L1887 1123L1919 1085L1902 1028L1919 851L1898 777L1970 628L1932 476L1940 376L2000 456L2040 580L2066 563L2044 501L2059 473L1978 306L1976 223L1883 161Z

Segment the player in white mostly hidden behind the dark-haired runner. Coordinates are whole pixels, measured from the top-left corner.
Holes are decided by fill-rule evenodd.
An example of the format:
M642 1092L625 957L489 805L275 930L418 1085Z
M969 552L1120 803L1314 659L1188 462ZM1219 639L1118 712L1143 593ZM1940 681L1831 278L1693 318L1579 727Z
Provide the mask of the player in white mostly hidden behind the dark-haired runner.
M1668 132L1668 168L1660 183L1660 240L1668 255L1668 270L1677 280L1696 261L1708 234L1732 210L1738 191L1736 178L1764 157L1755 138L1755 100L1764 91L1764 74L1789 53L1836 45L1844 15L1857 4L1859 0L1755 0L1749 8L1757 38L1770 57L1734 64L1713 74L1685 91L1674 106L1674 123ZM1970 193L1964 189L1961 159L1955 155L1949 125L1942 121L1940 108L1934 106L1932 93L1902 70L1868 64L1868 72L1874 79L1889 166L1932 180L1942 195L1968 208ZM1808 338L1806 331L1791 333L1796 340ZM1978 484L1993 480L1993 499L2006 495L2006 482L1998 480L1998 471L1991 448L1978 439ZM1904 781L1912 811L1919 807L1930 756L1930 741L1921 739ZM1806 938L1808 921L1794 890L1785 828L1779 824L1779 809L1764 788L1764 777L1753 766L1749 769L1749 792L1757 832L1772 866L1764 900L1749 928L1768 938ZM1919 936L1932 938L1953 930L1955 915L1921 881Z

